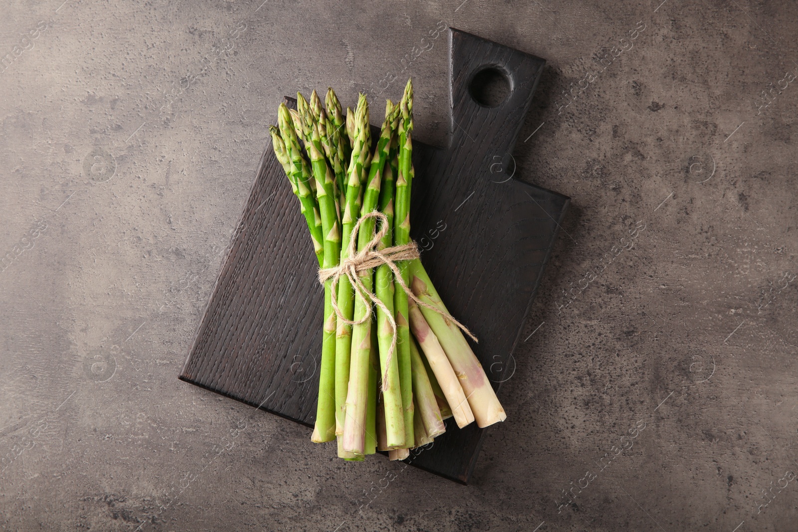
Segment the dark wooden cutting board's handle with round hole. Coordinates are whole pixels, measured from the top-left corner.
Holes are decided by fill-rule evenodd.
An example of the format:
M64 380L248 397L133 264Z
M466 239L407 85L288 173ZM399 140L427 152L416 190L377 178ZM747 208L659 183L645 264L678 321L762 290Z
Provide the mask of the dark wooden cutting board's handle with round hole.
M512 151L546 61L509 46L449 28L452 144L475 150ZM471 85L486 69L506 77L508 96L493 107L480 104Z

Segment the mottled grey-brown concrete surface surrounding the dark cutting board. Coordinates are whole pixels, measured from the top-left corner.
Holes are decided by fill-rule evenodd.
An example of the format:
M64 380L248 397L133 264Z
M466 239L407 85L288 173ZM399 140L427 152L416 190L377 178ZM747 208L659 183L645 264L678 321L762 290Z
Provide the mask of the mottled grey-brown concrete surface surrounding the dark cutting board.
M0 6L2 530L796 530L795 2L61 2ZM469 487L176 380L282 95L442 144L440 21L547 59L573 198Z

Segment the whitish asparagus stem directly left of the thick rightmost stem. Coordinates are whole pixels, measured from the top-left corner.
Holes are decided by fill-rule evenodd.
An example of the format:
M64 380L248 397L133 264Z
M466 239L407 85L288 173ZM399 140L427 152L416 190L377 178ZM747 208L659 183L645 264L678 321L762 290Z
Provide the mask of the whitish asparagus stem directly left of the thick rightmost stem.
M452 364L449 362L444 353L444 349L440 347L435 333L429 328L429 324L424 319L424 315L415 304L410 306L410 326L413 327L413 335L421 345L421 350L424 351L429 366L433 369L435 376L440 383L440 388L446 396L446 401L452 408L452 415L457 422L457 426L464 428L474 420L474 414L468 404L465 392L460 386L460 380L457 378Z

